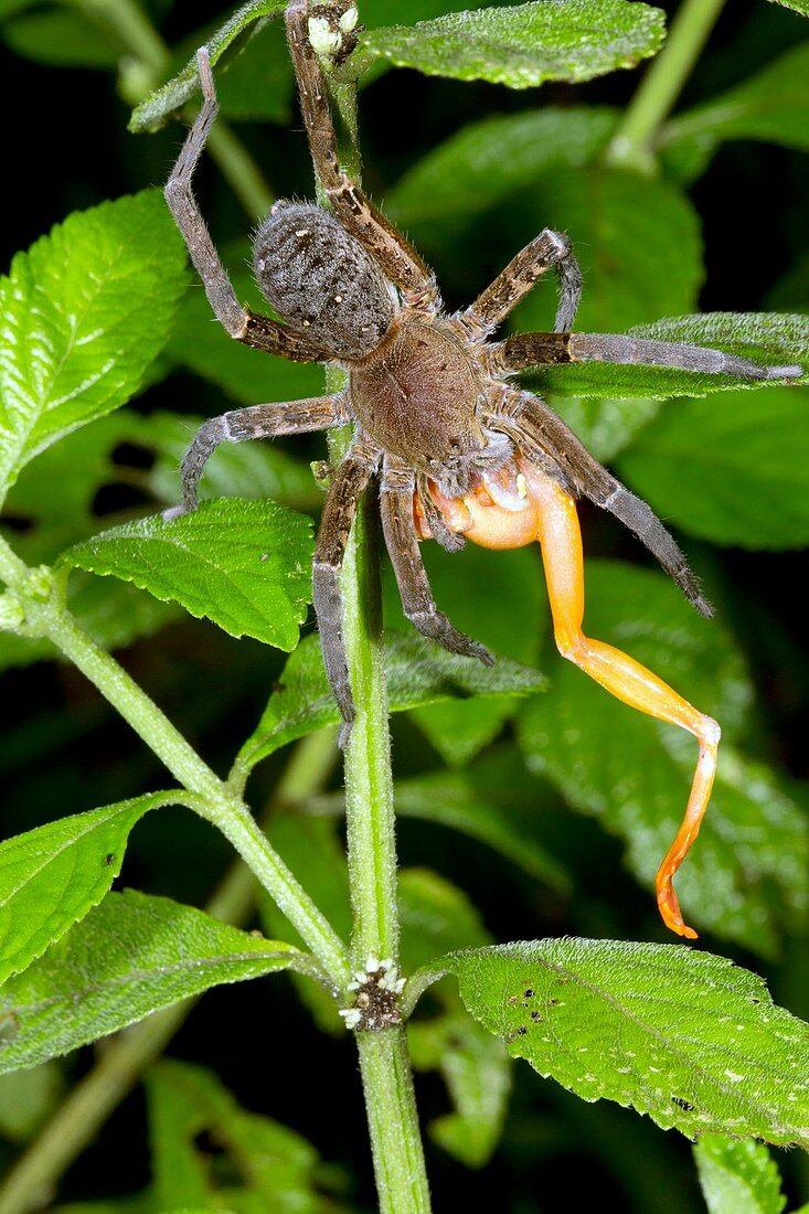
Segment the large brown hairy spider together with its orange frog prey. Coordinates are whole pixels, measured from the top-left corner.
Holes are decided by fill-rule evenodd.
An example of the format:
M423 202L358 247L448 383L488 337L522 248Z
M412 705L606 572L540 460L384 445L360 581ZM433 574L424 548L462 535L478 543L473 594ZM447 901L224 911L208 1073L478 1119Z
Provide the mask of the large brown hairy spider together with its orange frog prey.
M448 316L435 276L408 240L341 169L318 45L345 57L356 42L356 10L292 0L289 50L309 144L330 210L277 202L254 239L259 287L282 322L238 301L192 193L192 177L217 112L209 55L197 55L203 106L165 186L210 306L237 341L298 362L341 367L347 387L333 396L233 409L205 421L182 464L182 510L197 506L203 467L224 441L272 438L353 424L334 470L313 561L312 591L323 659L344 726L355 700L343 641L338 574L357 501L380 476L380 510L407 618L453 653L485 664L492 656L437 609L419 552L434 537L451 552L465 539L488 548L538 540L561 654L624 703L689 731L698 759L688 809L656 878L664 923L684 923L672 879L696 838L714 778L719 726L620 649L587 637L582 539L575 499L589 498L621 520L657 557L691 603L711 615L695 575L651 507L589 454L538 397L511 384L543 363L599 361L792 379L798 367L760 367L698 346L612 334L573 333L582 278L566 236L545 229L475 302ZM326 39L326 40L324 40ZM492 342L514 306L549 270L559 279L553 333Z

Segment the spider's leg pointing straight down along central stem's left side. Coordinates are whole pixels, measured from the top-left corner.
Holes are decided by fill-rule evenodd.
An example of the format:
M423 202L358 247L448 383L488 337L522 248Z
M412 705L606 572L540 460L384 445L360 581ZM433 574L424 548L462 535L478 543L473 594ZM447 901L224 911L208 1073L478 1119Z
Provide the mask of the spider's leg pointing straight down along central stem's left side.
M339 744L345 747L357 715L343 637L343 603L338 574L357 503L377 471L381 453L363 436L355 437L338 465L323 506L312 566L312 602L323 664L343 716Z

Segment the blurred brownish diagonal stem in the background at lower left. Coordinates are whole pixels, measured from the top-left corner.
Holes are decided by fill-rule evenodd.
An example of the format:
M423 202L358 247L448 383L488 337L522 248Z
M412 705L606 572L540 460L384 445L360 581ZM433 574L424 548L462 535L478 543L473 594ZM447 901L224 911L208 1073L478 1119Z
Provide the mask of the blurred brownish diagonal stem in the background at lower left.
M317 793L332 770L334 753L330 728L299 742L273 790L268 812L277 804ZM205 910L214 919L241 926L253 912L255 890L253 873L237 861ZM197 1002L197 998L183 999L115 1038L7 1174L0 1189L0 1214L26 1214L50 1197L60 1176L95 1139L146 1067L163 1053Z

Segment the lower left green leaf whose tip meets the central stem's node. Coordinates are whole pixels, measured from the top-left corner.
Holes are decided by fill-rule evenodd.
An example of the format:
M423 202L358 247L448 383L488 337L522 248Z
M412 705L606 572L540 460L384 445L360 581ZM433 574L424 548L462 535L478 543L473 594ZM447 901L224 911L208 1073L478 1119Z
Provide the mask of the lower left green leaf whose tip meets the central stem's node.
M108 894L0 987L0 1073L36 1066L222 982L306 968L298 949L170 898Z

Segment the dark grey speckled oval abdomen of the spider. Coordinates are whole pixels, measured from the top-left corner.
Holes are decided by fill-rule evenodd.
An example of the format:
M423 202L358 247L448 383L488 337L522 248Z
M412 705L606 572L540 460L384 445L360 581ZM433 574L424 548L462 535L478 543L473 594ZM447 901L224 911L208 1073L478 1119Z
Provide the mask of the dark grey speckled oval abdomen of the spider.
M255 234L253 267L282 319L335 358L364 357L390 329L392 288L360 242L313 203L273 205Z

